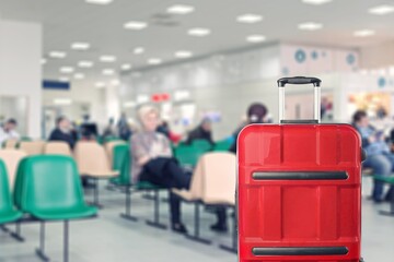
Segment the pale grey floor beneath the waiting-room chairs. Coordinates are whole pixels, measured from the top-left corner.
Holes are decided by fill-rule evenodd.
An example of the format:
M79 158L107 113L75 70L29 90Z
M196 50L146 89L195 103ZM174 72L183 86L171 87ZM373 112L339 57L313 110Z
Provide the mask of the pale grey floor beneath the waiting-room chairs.
M369 191L366 180L364 192ZM163 194L164 196L164 194ZM207 230L215 222L209 213L202 214L201 234L213 243L205 246L193 242L183 236L151 228L144 224L144 218L152 215L152 203L140 195L134 196L134 212L140 217L137 223L119 217L123 211L124 196L118 192L103 190L105 207L100 217L92 221L71 223L70 261L72 262L235 262L236 255L222 251L219 243L230 243L230 235L216 235ZM362 201L362 253L367 262L390 262L394 259L394 217L378 214L389 205L373 205L363 198ZM162 205L163 222L167 222L166 204ZM193 229L193 206L184 206L184 219L189 230ZM12 228L13 226L9 226ZM0 262L34 262L39 261L34 249L38 245L38 224L23 225L23 236L26 241L15 242L7 234L0 233ZM60 223L47 226L46 250L54 261L61 261L62 225ZM179 260L182 258L182 260Z

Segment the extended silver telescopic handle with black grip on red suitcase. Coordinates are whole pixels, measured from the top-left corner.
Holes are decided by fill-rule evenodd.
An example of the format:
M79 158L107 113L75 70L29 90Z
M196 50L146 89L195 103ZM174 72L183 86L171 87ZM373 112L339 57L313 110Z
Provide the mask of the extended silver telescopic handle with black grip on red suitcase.
M282 78L278 80L279 86L279 123L320 123L321 121L321 83L317 78ZM313 84L314 103L313 103L313 120L285 120L285 86L286 84Z

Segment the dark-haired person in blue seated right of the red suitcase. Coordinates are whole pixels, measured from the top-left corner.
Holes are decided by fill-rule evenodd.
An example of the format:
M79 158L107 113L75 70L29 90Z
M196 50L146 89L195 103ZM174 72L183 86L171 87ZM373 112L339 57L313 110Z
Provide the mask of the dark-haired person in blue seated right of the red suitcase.
M362 166L372 168L375 176L389 176L394 170L394 155L390 153L383 132L370 126L367 112L363 110L356 111L352 120L355 128L361 135L362 148L367 153L367 159L362 163ZM383 200L390 200L392 193L394 193L394 189L391 187L387 194L383 196L383 190L384 183L374 180L372 190L372 200L374 202L380 203Z

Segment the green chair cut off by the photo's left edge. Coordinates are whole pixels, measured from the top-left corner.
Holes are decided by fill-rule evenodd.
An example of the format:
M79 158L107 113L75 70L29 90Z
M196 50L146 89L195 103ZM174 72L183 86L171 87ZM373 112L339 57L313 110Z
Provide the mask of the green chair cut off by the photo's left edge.
M5 165L0 159L0 225L16 222L21 217L22 212L13 205Z

